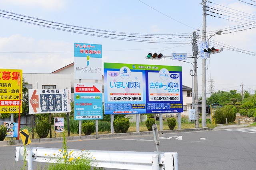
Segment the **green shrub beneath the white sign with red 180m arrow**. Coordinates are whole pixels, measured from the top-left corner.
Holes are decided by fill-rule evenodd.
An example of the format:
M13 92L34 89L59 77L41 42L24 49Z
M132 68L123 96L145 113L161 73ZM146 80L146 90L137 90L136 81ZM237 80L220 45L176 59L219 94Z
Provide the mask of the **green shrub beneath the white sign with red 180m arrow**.
M36 123L36 133L40 138L46 138L51 129L51 125L48 119L43 118L41 121Z

